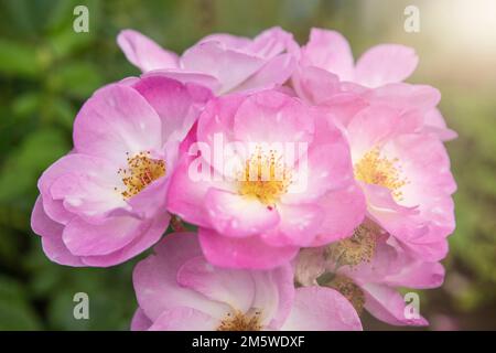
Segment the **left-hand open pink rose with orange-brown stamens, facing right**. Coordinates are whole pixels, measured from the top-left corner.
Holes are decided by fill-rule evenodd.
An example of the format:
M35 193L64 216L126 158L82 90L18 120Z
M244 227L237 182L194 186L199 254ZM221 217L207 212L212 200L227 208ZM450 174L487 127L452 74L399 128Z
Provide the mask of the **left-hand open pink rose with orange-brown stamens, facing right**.
M39 181L31 224L50 259L111 266L160 239L180 143L209 95L150 76L106 86L85 103L74 149Z

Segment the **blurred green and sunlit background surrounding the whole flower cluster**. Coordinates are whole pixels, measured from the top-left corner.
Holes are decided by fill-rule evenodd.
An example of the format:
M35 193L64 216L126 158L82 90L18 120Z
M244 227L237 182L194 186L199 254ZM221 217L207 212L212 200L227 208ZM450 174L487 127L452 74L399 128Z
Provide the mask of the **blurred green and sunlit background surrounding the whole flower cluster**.
M73 10L89 9L89 33ZM420 9L406 33L403 10ZM355 56L393 42L413 46L412 83L442 94L460 138L448 143L459 191L457 228L442 288L419 291L431 330L496 330L496 1L493 0L0 0L0 330L127 330L138 259L110 269L50 263L31 232L42 171L71 149L73 119L99 86L138 71L116 45L132 28L177 52L211 32L256 35L281 25L305 43L312 26L348 38ZM87 292L90 319L75 320ZM368 329L395 330L365 317Z

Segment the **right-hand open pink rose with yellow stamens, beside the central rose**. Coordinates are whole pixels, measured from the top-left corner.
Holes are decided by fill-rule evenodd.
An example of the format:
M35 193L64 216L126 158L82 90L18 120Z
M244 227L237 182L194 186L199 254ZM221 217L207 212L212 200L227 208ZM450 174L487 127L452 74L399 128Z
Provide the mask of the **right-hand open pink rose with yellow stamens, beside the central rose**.
M368 217L412 256L435 261L455 227L456 184L443 143L417 127L390 107L370 106L353 117L346 136Z

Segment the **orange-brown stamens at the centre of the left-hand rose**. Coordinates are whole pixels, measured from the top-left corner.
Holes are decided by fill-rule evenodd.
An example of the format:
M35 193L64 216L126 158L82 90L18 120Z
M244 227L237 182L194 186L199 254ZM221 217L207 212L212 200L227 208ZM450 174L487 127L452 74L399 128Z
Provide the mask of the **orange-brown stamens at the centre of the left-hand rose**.
M126 190L121 192L125 200L140 193L157 179L165 175L165 162L150 158L150 152L140 152L128 157L128 168L119 169ZM117 190L117 188L116 188Z

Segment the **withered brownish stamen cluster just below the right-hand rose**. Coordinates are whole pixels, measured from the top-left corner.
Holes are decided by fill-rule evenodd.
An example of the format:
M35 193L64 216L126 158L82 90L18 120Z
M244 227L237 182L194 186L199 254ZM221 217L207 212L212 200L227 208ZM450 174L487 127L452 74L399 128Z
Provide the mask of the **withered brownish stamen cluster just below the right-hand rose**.
M325 257L336 266L357 266L369 263L376 253L377 237L380 228L365 221L355 228L353 235L346 239L333 243L325 249Z

